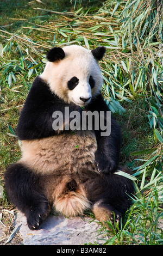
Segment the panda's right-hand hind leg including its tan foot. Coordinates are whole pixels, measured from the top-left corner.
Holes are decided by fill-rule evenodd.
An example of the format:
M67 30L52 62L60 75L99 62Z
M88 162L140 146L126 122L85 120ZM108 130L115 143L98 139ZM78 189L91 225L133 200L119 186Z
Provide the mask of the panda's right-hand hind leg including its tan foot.
M124 176L99 174L94 180L87 181L85 190L97 220L106 222L110 218L114 223L128 210L134 186L133 181Z

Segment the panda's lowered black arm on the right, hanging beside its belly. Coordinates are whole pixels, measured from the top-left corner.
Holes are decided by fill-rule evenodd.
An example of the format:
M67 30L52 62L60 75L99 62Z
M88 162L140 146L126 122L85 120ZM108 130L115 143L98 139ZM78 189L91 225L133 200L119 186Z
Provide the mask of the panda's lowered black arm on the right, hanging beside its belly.
M92 100L90 105L87 106L88 111L103 111L105 113L106 124L106 112L110 111L106 105L102 95L98 95L95 100ZM109 136L102 136L102 130L95 130L97 139L97 151L95 160L97 163L97 169L103 173L114 172L119 163L120 148L122 135L120 126L117 124L114 117L111 115L111 133Z

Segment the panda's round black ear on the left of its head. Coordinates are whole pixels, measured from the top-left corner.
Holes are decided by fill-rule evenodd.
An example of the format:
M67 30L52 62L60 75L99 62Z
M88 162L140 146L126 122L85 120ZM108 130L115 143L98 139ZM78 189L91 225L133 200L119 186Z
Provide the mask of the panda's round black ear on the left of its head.
M49 62L55 62L56 60L65 58L65 52L60 47L54 47L47 52L46 58Z

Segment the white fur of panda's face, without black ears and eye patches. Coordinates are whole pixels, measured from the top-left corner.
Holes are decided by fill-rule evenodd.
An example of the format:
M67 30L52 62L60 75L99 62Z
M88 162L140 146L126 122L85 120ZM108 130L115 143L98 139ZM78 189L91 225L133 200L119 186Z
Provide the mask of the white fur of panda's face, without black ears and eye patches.
M45 80L52 92L57 94L67 103L75 103L84 106L89 103L92 96L101 91L103 77L96 59L91 51L78 45L65 46L63 48L65 58L57 62L47 62L41 78ZM79 83L73 90L68 90L67 82L76 76ZM95 87L91 89L90 76L95 80ZM80 97L89 98L84 103Z

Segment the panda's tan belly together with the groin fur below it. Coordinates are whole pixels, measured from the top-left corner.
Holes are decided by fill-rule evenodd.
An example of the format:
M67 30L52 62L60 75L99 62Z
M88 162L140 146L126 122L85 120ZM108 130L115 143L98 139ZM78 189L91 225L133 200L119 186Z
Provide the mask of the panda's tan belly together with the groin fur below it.
M52 208L65 216L90 209L85 181L95 168L96 137L91 131L22 141L20 162L41 177ZM93 178L94 179L94 178Z

